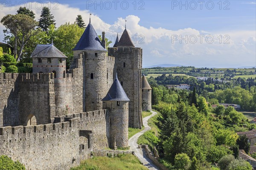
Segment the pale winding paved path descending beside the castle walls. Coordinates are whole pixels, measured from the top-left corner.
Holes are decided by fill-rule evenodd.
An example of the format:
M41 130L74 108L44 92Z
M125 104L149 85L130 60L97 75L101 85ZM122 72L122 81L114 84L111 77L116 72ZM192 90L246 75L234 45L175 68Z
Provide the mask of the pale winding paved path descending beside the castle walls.
M151 161L151 159L146 156L146 153L144 150L138 148L137 139L145 133L146 131L150 130L150 127L148 126L148 119L152 116L156 115L157 112L152 111L152 114L150 116L143 118L143 125L145 127L144 130L140 131L139 133L136 133L134 136L132 136L129 139L129 146L132 151L134 151L135 155L140 159L140 161L143 163L145 167L147 167L149 170L159 170L159 168L154 165L154 163Z

